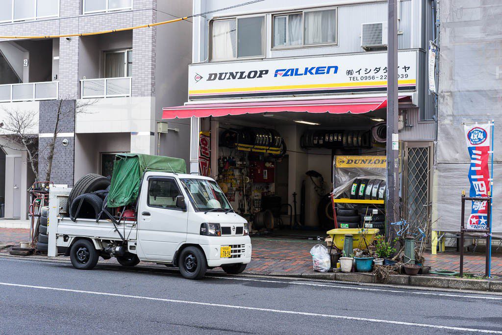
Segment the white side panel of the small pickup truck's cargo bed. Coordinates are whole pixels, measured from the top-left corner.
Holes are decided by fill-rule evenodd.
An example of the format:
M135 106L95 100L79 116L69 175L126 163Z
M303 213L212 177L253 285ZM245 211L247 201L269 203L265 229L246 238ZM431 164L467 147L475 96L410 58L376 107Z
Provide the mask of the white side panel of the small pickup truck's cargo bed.
M136 221L126 221L125 223L122 221L117 225L117 228L126 240L136 240ZM111 221L99 220L96 222L95 219L91 218L78 218L75 222L69 217L60 218L56 234L58 236L88 236L103 240L121 240Z

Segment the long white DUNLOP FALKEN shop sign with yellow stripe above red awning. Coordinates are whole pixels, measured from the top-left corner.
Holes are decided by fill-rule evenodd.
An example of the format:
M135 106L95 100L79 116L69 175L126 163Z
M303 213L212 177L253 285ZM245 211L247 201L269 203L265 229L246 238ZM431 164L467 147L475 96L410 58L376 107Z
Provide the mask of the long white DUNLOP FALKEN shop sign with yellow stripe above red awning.
M417 51L398 56L400 91L415 91ZM201 63L189 67L190 100L387 91L387 53Z

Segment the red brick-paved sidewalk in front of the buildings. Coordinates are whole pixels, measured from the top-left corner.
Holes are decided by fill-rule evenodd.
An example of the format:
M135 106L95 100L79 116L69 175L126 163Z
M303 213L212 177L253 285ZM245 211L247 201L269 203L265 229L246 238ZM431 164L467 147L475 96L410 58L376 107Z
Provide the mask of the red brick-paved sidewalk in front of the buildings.
M0 245L27 242L28 234L27 229L0 228ZM317 243L318 241L253 238L253 258L245 273L262 275L313 273L309 251ZM459 254L456 252L428 254L425 265L431 269L458 271L459 259ZM465 253L464 271L484 273L484 260L484 253ZM492 255L491 273L502 276L502 254Z

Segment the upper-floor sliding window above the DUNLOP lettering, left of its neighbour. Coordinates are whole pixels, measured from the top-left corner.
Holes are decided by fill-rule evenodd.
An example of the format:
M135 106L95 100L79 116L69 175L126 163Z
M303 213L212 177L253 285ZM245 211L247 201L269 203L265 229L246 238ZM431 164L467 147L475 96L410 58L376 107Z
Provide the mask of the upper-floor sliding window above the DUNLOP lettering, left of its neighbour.
M231 60L264 55L264 16L212 22L211 60Z

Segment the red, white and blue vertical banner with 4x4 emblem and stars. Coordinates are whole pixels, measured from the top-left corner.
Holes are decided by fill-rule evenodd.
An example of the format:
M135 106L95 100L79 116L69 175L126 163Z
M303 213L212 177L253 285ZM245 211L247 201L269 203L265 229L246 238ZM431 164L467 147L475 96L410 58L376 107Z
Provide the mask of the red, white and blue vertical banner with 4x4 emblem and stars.
M465 140L469 150L469 182L471 197L487 197L490 191L490 155L491 124L464 125ZM466 229L481 230L487 228L488 207L486 201L472 201L472 210Z

